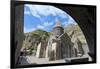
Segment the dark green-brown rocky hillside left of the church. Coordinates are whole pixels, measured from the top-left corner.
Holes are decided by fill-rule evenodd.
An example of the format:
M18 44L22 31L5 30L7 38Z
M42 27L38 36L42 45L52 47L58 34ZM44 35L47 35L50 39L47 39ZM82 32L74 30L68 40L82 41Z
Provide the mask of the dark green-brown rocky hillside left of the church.
M24 34L25 39L21 51L27 50L29 55L36 52L37 45L40 42L47 42L50 36L49 32L43 30L35 30ZM33 53L34 54L34 53Z

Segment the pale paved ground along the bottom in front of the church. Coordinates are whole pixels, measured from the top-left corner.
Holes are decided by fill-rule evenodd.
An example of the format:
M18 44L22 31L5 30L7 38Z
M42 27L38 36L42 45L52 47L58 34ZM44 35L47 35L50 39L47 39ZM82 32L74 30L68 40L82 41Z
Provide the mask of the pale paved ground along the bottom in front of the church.
M78 60L88 58L88 61L92 61L91 57L87 54L89 52L88 46L82 46L85 54L82 57L74 57L74 58L65 58L56 61L49 61L49 58L37 58L35 56L20 56L20 64L28 65L28 64L52 64L52 63L70 63L71 60Z

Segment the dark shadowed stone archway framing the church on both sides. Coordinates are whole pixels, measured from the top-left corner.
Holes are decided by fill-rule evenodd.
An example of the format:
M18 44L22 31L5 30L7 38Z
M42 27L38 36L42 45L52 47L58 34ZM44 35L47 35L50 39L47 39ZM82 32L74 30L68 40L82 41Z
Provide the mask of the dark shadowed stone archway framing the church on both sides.
M15 6L15 5L12 5ZM53 5L55 6L55 5ZM96 52L95 52L95 39L96 39L96 8L95 7L80 7L80 6L71 6L71 5L67 5L67 6L55 6L63 11L65 11L66 13L68 13L80 26L80 28L82 29L84 36L87 40L88 46L89 46L89 50L90 53L89 55L95 60L96 58ZM13 7L12 7L13 8ZM15 27L15 30L17 29L17 31L13 30L12 35L15 37L14 39L11 39L14 43L16 43L17 41L17 46L15 45L13 51L15 51L15 53L12 53L12 55L15 55L15 59L14 59L14 64L17 63L18 60L18 56L20 55L20 49L21 49L21 44L22 44L22 40L23 39L23 14L24 14L24 5L19 5L16 6L15 9L13 8L12 11L13 14L16 15L20 15L15 17L15 22L12 21L13 23L15 23L14 25L12 25L13 27ZM17 12L15 12L17 11ZM13 19L13 17L12 17ZM18 26L16 26L18 25ZM13 28L12 27L12 28ZM18 27L18 28L17 28ZM19 33L20 31L20 33ZM16 34L18 33L18 34ZM14 35L15 34L15 35ZM19 38L19 39L18 39Z

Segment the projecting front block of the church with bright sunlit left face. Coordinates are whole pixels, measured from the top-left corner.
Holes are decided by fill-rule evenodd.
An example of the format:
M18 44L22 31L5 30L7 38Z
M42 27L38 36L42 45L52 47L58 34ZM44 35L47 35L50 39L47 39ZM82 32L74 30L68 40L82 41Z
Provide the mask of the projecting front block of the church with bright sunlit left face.
M51 51L49 60L59 60L61 59L61 41L57 39L52 39Z

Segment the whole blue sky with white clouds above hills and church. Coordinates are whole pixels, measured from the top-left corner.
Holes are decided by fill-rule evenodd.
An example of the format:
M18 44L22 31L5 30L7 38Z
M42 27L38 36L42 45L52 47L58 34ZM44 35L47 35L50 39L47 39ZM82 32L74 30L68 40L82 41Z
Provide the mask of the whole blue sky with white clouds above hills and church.
M24 5L24 33L37 29L52 31L56 22L65 27L76 22L64 11L50 5Z

